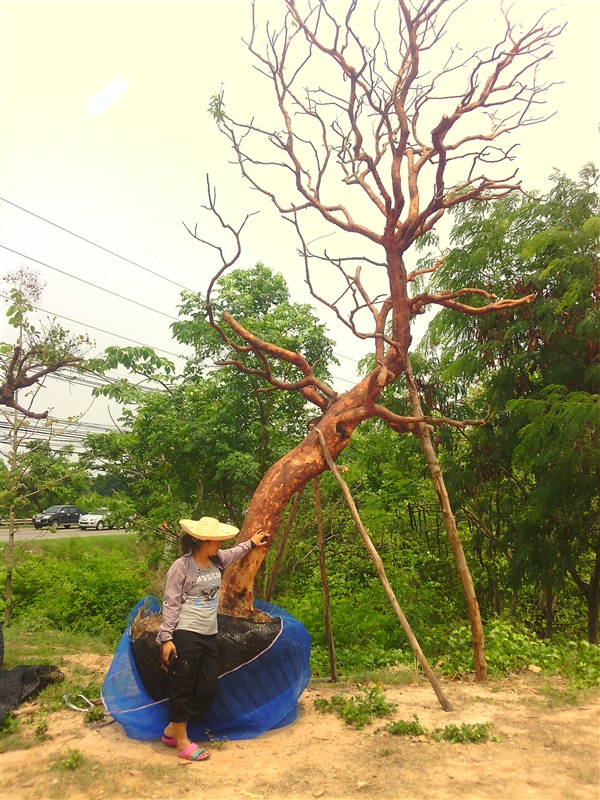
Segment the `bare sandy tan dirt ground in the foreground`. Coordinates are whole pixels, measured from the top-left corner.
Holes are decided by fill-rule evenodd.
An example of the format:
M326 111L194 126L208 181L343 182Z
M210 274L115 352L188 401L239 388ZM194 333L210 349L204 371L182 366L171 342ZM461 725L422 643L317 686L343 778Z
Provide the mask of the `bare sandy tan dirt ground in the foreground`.
M110 658L77 657L104 674ZM548 691L548 686L551 691ZM544 687L546 689L544 690ZM382 687L394 702L390 720L362 730L315 708L315 699L357 694L356 686L312 683L287 728L212 749L203 763L184 762L160 741L128 739L106 718L52 713L44 741L5 752L1 800L597 800L600 797L600 698L556 702L559 681L527 673L501 682L447 682L445 712L426 682ZM554 698L554 699L553 699ZM25 710L26 706L21 709ZM416 715L428 731L451 723L491 723L500 741L434 742L393 736L391 720ZM108 724L107 724L108 723ZM23 725L23 728L33 726ZM75 770L56 763L79 751Z

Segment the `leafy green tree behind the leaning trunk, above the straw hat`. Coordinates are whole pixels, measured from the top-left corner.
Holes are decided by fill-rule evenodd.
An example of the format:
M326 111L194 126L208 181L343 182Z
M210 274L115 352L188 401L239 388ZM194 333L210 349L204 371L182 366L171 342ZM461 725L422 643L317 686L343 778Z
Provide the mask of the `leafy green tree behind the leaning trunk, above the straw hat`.
M332 342L310 307L291 302L280 274L260 263L234 270L219 283L216 302L227 303L243 324L304 351L318 363L319 374L329 377ZM121 476L137 511L155 524L199 512L241 525L264 472L307 429L304 398L265 392L255 353L240 354L241 371L229 363L209 368L227 351L206 315L200 295L184 295L182 319L173 330L194 353L183 380L147 353L111 350L109 366L121 361L154 380L161 367L167 372L152 392L127 383L103 389L132 404L126 406L129 432L87 437L90 463ZM278 373L279 380L287 377L285 369Z

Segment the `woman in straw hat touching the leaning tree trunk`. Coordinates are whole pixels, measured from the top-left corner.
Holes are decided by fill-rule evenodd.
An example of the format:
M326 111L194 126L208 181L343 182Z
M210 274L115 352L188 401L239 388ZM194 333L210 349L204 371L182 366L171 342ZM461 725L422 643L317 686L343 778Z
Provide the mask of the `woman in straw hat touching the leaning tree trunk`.
M237 535L238 528L214 517L179 522L184 555L167 572L162 624L156 641L169 668L169 724L162 740L177 747L188 761L204 761L207 750L190 742L188 722L200 722L211 704L219 677L217 607L223 570L255 547L264 547L262 531L229 550L221 542Z

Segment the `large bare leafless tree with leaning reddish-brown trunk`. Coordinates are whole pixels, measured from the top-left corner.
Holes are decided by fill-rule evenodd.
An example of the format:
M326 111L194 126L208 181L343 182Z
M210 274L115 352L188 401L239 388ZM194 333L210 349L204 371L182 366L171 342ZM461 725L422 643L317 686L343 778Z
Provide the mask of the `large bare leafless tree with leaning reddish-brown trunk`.
M456 526L447 494L440 490L435 452L424 434L431 426L462 427L476 421L415 412L420 403L408 361L411 320L430 306L460 314L501 314L532 298L497 299L480 287L430 293L417 287L439 268L441 259L410 269L409 251L448 210L519 190L510 167L512 148L503 142L522 126L541 121L538 107L549 87L540 82L539 67L560 33L560 27L548 26L543 19L523 30L502 10L498 40L466 53L447 41L460 30L460 14L468 14L470 8L469 2L454 0L377 5L282 0L283 21L274 28L270 22L261 25L261 6L253 4L247 44L272 90L275 121L264 121L270 113L265 94L260 95L262 123L234 119L222 94L211 103L243 177L295 229L312 295L352 335L372 341L376 366L350 391L337 394L317 379L300 353L260 340L229 314L215 319L211 290L240 253L241 228L234 230L221 220L236 240L236 253L228 259L218 248L222 266L210 283L207 309L211 324L232 348L231 359L223 363L260 374L270 390L301 392L320 411L316 428L333 459L366 419L378 417L400 433L419 435L444 518L452 521L447 526L451 540ZM209 197L209 208L219 216L210 190ZM323 228L315 233L319 221ZM312 247L308 222L313 242L319 233L336 233L336 255ZM203 241L197 230L194 235ZM327 270L339 281L339 291L332 296L323 289ZM248 354L254 356L252 366L245 361ZM277 361L295 365L298 380L277 379ZM413 416L403 417L380 400L385 387L407 372ZM268 470L252 498L241 539L258 528L274 534L294 493L327 468L318 431L309 432ZM224 613L257 618L253 583L264 557L265 549L257 549L243 570L228 570L221 592ZM481 636L482 648L466 562L459 573L474 642ZM485 677L485 661L478 677Z

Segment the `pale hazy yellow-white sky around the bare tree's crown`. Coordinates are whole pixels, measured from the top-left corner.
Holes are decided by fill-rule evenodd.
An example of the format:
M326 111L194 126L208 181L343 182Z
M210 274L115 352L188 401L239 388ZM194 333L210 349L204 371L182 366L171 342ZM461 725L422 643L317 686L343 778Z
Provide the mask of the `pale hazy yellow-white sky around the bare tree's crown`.
M169 333L179 292L204 291L217 264L182 225L205 224L209 173L232 222L261 210L248 224L240 266L260 259L283 272L294 299L309 300L290 226L228 164L232 154L206 113L222 84L228 110L260 112L262 90L241 42L249 31L249 2L0 5L2 274L21 264L39 269L46 282L41 308L74 333L87 333L98 351L135 340L182 352ZM274 15L281 3L259 5ZM512 15L530 18L550 5L517 0ZM548 98L548 111L556 114L519 134L517 159L525 186L542 190L555 167L576 177L586 162L600 162L600 3L565 0L553 8L552 19L568 23L545 73L562 81ZM465 37L477 41L494 15L495 0L472 0ZM343 390L349 384L342 378L353 378L364 350L326 310L318 313L345 356L335 370L336 388ZM0 324L6 340L4 313ZM64 417L82 411L90 398L87 390L65 395L49 382L40 403ZM97 400L86 419L106 421L106 406Z

